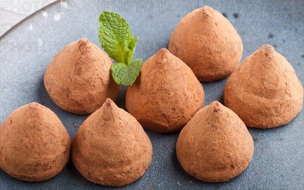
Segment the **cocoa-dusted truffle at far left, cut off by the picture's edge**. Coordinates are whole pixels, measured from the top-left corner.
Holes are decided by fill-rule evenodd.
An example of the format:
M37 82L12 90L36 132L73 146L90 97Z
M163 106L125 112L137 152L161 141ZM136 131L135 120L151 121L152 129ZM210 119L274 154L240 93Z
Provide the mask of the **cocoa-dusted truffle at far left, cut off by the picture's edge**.
M70 137L56 114L33 102L19 107L1 125L0 166L23 181L44 181L66 165Z

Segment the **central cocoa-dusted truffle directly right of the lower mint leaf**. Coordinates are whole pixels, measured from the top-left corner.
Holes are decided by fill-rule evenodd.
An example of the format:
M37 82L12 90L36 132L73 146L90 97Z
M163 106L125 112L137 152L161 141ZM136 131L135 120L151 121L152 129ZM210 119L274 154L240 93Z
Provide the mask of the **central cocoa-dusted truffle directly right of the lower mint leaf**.
M126 106L146 129L179 131L203 107L204 90L192 70L167 49L142 65L126 92Z

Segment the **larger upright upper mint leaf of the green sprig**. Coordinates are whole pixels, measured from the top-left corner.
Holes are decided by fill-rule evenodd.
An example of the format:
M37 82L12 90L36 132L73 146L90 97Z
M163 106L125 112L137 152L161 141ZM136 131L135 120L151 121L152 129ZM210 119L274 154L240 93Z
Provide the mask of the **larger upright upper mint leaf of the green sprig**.
M133 37L129 24L119 14L103 11L99 17L101 47L118 63L128 64L138 37Z

